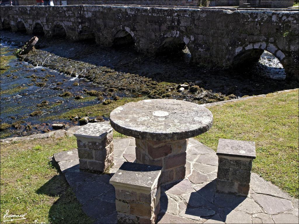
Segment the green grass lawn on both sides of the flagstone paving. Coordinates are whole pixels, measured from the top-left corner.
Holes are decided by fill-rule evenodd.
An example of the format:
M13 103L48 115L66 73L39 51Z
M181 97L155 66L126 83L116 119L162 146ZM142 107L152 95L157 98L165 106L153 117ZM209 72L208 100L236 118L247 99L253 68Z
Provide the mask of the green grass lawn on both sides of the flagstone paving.
M196 139L214 150L219 138L255 141L253 171L298 198L298 90L210 110L214 125ZM7 209L27 213L15 223L92 223L51 163L54 153L76 147L74 136L1 143L1 223Z

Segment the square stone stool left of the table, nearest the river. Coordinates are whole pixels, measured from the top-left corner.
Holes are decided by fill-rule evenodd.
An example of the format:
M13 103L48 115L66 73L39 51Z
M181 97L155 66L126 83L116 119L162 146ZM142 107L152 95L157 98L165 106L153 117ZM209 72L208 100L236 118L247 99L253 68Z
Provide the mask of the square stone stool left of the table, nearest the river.
M113 129L109 122L88 123L74 136L81 170L104 172L113 165Z

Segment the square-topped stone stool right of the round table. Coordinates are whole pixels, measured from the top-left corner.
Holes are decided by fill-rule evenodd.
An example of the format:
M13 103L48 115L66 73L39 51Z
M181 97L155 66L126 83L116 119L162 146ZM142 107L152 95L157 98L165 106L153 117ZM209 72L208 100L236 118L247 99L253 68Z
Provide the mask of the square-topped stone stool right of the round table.
M255 143L219 139L217 190L248 195Z

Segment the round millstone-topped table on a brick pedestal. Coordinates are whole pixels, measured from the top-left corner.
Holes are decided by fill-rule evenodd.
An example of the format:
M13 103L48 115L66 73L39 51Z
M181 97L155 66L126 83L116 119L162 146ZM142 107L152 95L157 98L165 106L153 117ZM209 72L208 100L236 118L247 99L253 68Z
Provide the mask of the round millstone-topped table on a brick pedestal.
M110 124L135 137L137 163L163 167L161 183L165 183L185 177L188 139L208 131L213 115L187 101L146 99L115 108Z

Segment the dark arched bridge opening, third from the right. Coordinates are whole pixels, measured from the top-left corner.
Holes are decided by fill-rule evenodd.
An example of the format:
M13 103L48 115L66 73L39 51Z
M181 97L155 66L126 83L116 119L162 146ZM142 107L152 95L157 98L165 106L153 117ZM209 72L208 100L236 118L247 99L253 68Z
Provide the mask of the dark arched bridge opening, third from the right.
M112 38L113 46L134 45L135 42L136 35L128 27L116 31Z

